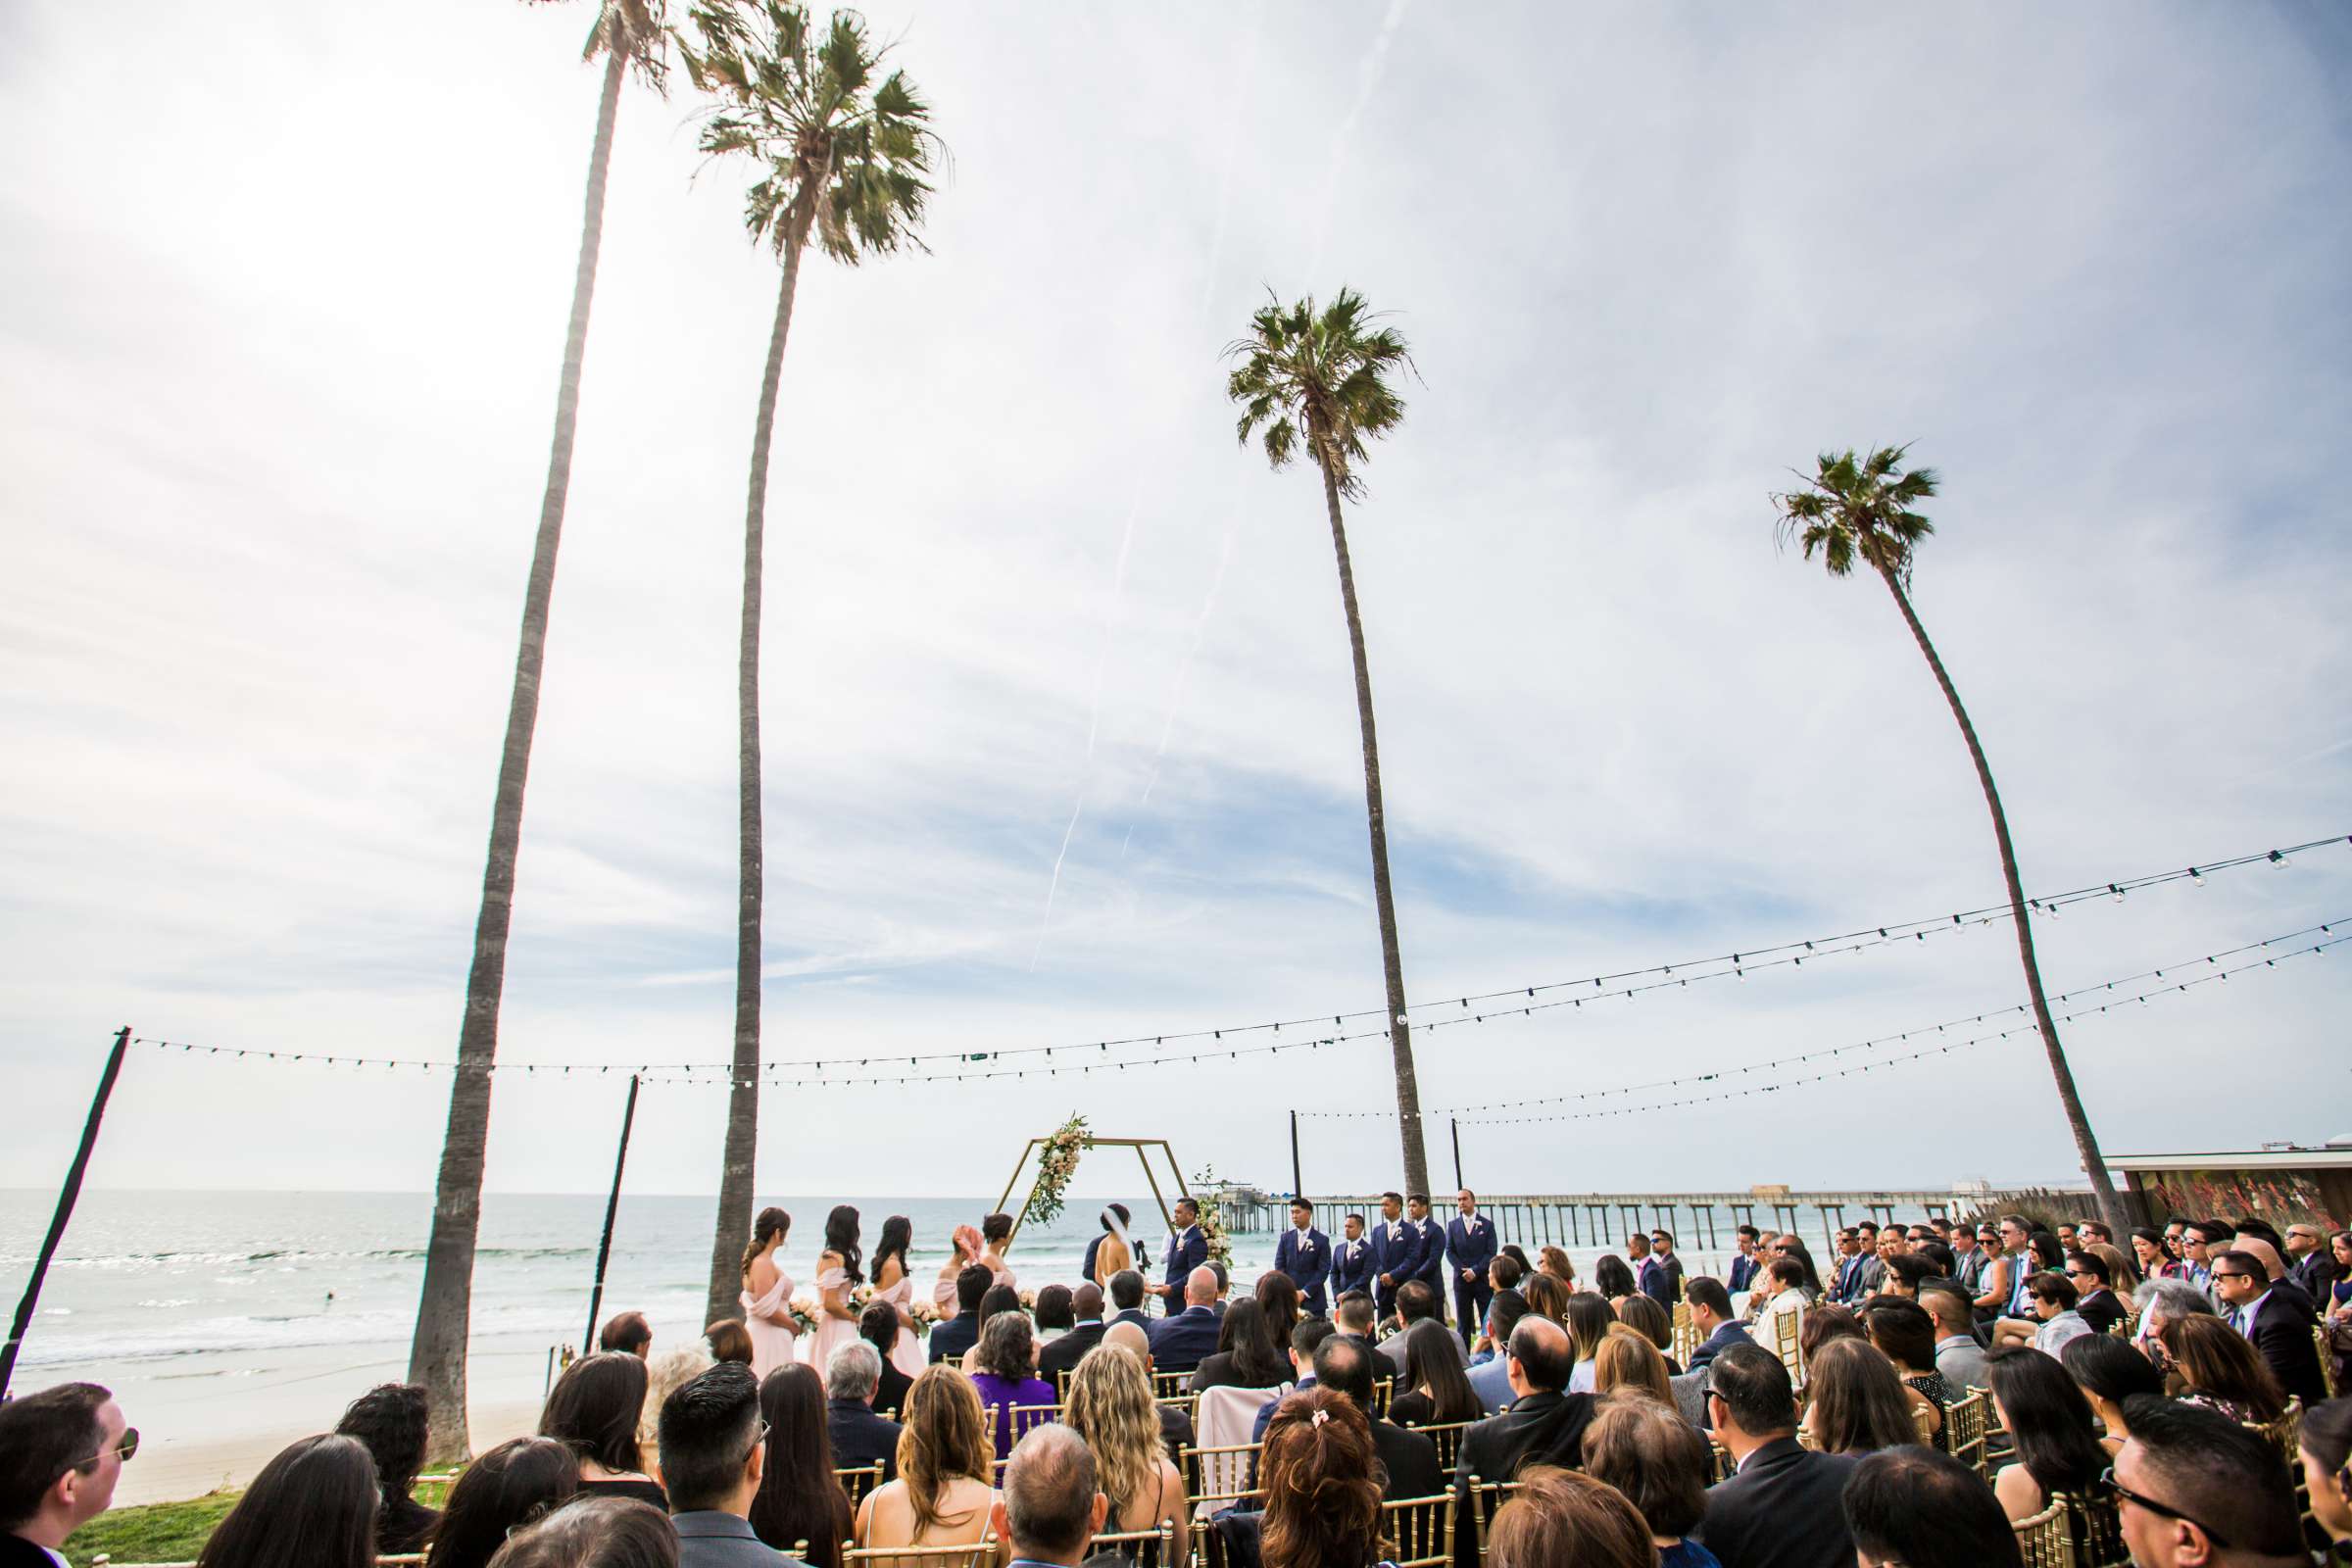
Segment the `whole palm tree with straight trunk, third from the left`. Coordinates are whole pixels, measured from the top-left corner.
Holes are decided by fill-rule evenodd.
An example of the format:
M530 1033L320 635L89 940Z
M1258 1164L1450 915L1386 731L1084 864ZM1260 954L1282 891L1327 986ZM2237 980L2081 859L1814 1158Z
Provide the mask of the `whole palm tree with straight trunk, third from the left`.
M1341 501L1355 501L1364 484L1355 468L1364 440L1388 435L1404 418L1404 400L1388 378L1411 369L1404 336L1378 327L1364 296L1341 289L1322 310L1312 299L1284 306L1268 301L1249 317L1249 336L1225 348L1240 360L1225 376L1225 395L1242 404L1240 437L1265 442L1265 461L1284 468L1305 440L1322 470L1331 550L1338 555L1338 602L1348 611L1348 649L1355 656L1355 719L1364 731L1364 816L1371 823L1371 898L1381 914L1381 973L1388 980L1388 1048L1397 1067L1397 1131L1404 1138L1404 1185L1430 1190L1430 1159L1421 1147L1421 1084L1414 1077L1414 1032L1404 1011L1404 959L1397 954L1397 900L1388 889L1388 813L1381 806L1381 741L1371 724L1371 665L1364 661L1364 616L1355 604L1355 571L1348 567L1348 524Z

